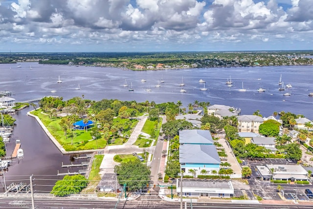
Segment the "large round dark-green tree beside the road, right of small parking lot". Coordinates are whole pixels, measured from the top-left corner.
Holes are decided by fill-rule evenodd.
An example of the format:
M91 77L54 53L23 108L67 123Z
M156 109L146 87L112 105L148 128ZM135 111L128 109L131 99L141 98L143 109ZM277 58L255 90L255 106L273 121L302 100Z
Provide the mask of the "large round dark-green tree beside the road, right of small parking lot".
M150 168L138 159L116 165L117 180L120 185L126 184L128 191L136 191L150 183Z

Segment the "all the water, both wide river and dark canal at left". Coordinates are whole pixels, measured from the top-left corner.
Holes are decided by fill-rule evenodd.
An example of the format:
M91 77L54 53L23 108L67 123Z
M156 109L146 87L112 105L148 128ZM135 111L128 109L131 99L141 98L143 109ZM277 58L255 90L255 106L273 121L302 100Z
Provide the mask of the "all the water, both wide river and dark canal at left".
M290 111L313 119L313 111L311 111L313 97L308 96L308 93L313 92L313 66L147 71L40 65L38 63L21 63L21 66L22 68L17 68L17 64L0 65L0 91L12 91L14 95L11 97L16 101L48 95L62 96L67 100L74 96L84 95L85 99L91 100L116 98L138 102L154 100L156 103L180 100L183 107L187 108L188 103L198 100L241 108L242 115L252 114L256 110L260 110L263 116L270 116L274 111ZM278 91L280 75L285 85L288 83L292 85L291 89ZM58 76L61 77L62 83L57 83ZM232 87L225 85L229 76L233 81ZM129 87L123 86L125 79L127 84L132 84L134 92L129 92ZM141 79L145 79L146 82L141 82ZM155 87L162 79L165 82L161 83L161 87ZM206 81L207 91L200 91L200 88L203 88L203 84L199 83L200 79ZM179 83L182 80L185 83L183 88L187 91L186 93L179 92L181 89ZM75 90L78 85L80 90ZM242 85L246 92L239 91ZM152 91L145 91L148 88ZM266 89L266 92L259 93L258 88ZM51 93L51 91L56 92ZM284 96L286 92L291 93L291 96ZM12 152L15 140L20 139L24 159L14 160L8 172L5 173L8 181L6 184L10 184L13 180L27 182L29 176L34 174L36 179L43 179L36 180L35 189L48 191L57 179L62 179L56 176L57 170L67 171L67 168L61 168L61 163L69 164L73 159L72 156L62 155L47 138L36 120L26 116L26 112L30 109L27 108L14 115L17 125L7 145L7 153ZM69 171L77 169L70 168ZM53 181L46 179L53 179Z

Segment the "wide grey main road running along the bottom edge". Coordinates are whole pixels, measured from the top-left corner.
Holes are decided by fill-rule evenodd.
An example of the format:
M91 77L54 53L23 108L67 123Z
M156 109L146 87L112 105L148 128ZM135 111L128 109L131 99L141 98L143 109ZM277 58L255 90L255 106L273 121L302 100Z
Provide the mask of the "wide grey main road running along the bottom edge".
M36 209L113 209L116 201L84 199L35 199ZM121 200L117 209L179 209L179 202L166 201L125 201ZM0 208L31 208L30 199L0 199ZM262 205L242 203L193 203L193 209L311 209L312 205ZM184 209L190 209L190 203L184 203Z

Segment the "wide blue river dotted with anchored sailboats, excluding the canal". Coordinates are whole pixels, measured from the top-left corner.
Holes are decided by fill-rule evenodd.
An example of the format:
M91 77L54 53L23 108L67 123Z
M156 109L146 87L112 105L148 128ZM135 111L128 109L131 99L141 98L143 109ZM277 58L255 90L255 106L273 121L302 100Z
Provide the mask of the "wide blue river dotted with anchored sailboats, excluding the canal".
M147 70L133 71L115 68L100 67L75 67L40 65L38 63L21 63L0 65L0 90L12 91L12 97L17 101L33 99L47 95L58 95L64 99L84 95L85 99L101 100L103 98L116 98L120 100L146 100L156 103L180 100L183 107L189 103L209 101L211 104L223 104L242 109L243 114L252 114L260 110L263 116L270 116L274 111L292 112L303 114L313 119L313 97L308 96L313 92L312 70L313 66L270 66L270 67L244 67L244 68L205 68L182 70ZM29 66L32 66L30 70ZM10 70L11 67L11 70ZM285 85L291 84L292 88L278 91L280 74ZM63 81L57 83L58 76ZM225 84L231 76L233 87ZM180 93L179 83L187 92ZM157 81L164 79L165 83L156 88ZM132 83L134 92L129 92L129 87L124 87L125 79ZM140 82L141 79L147 82ZM199 80L206 81L203 84ZM261 80L259 80L261 79ZM240 92L242 82L246 92ZM75 88L80 85L80 90ZM150 88L152 92L145 89ZM266 92L257 92L258 88ZM57 91L51 93L51 91ZM291 96L284 96L284 93Z

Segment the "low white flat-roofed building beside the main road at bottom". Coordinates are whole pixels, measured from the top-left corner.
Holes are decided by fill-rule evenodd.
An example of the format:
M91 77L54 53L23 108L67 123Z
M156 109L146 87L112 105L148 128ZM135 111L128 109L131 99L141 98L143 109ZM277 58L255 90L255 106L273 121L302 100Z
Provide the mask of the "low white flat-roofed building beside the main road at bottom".
M180 196L180 179L176 183L176 191ZM183 197L232 197L234 187L228 180L182 180Z

